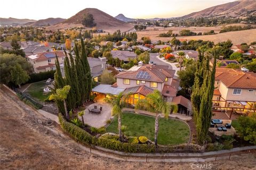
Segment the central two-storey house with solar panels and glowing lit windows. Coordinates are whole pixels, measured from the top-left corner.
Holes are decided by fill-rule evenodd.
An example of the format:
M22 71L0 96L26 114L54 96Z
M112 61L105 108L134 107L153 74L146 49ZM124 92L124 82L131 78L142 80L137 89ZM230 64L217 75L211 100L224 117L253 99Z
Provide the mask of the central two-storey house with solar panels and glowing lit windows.
M116 88L118 92L131 93L128 99L128 103L131 105L135 105L139 99L145 98L154 90L160 91L165 101L172 102L176 98L179 88L179 80L173 78L174 73L175 70L169 69L167 65L144 64L133 66L130 70L117 74L115 76L116 83L113 86L109 85L109 89ZM92 91L101 94L106 92L105 90L103 92L103 89L101 90L101 86L102 84L92 89ZM181 96L180 98L184 97ZM185 105L184 107L190 104L189 100L185 101L188 104L183 104L183 99L177 99L176 101L178 101L177 104ZM185 112L187 111L191 111L191 108L186 108Z

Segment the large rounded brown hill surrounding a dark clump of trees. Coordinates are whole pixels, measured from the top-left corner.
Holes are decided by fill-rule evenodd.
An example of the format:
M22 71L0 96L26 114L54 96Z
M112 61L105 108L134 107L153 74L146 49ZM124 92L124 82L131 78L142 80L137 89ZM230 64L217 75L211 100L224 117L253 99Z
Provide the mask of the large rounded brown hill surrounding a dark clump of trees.
M123 21L115 19L113 16L110 16L109 14L102 12L98 10L97 8L85 8L84 10L78 12L74 16L71 16L71 18L52 25L48 27L48 29L67 29L67 28L73 28L73 27L82 27L82 20L84 17L84 14L90 13L93 15L94 22L97 24L95 27L97 29L102 29L107 32L114 32L116 30L121 31L127 31L133 28L132 24L125 23Z

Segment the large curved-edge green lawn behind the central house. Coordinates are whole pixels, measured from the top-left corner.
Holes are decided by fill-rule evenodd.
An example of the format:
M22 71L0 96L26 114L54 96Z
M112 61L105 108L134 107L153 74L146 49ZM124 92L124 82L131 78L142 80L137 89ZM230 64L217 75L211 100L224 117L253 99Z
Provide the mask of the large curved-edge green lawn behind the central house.
M145 136L151 141L154 141L155 132L155 117L138 115L134 113L124 113L122 117L122 125L127 126L126 135L129 136ZM117 116L114 121L108 126L107 132L118 133ZM186 143L189 140L188 126L177 120L166 120L160 118L158 143L162 145L174 145Z

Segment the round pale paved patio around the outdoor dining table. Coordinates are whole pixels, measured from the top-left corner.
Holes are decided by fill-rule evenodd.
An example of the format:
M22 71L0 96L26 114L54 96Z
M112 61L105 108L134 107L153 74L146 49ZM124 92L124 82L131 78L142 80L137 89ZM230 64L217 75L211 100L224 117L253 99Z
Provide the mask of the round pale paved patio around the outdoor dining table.
M102 107L100 114L89 113L88 109L91 110L94 108L94 106L97 106L98 108ZM87 106L84 111L84 123L95 128L101 128L102 126L105 126L107 124L106 121L111 118L111 108L111 105L108 103L94 103ZM82 120L80 116L78 117L80 120Z

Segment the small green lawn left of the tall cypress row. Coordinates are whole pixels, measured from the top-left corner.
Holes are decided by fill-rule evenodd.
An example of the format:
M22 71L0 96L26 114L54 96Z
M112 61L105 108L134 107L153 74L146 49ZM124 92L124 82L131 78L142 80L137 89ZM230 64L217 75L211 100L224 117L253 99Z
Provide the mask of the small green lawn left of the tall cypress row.
M26 92L33 98L39 100L39 101L44 101L50 93L44 94L44 88L47 87L45 84L46 80L44 81L38 81L35 83L32 83L26 90Z

